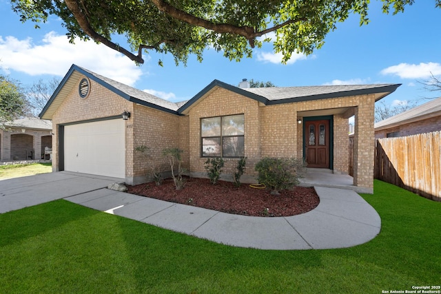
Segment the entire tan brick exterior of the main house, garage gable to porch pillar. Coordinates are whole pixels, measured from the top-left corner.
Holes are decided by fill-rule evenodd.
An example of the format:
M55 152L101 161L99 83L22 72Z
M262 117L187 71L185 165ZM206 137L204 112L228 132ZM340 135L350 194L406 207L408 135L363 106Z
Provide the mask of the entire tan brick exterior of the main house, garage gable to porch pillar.
M327 109L334 111L334 162L338 173L347 174L349 170L348 121L339 114L338 109L351 107L356 113L356 135L354 148L354 185L373 191L373 109L374 96L351 96L329 98L317 101L303 101L283 105L258 103L222 87L214 87L209 93L189 107L185 116L168 114L150 107L130 103L110 90L91 81L91 94L81 99L78 86L73 87L65 98L52 123L55 135L52 138L53 169L59 169L58 126L109 116L120 115L124 109L132 113L125 129L126 182L136 184L145 181L145 159L134 152L139 145L152 150L154 164L164 172L170 171L162 150L170 147L183 149L184 167L190 176L206 177L201 157L201 118L244 114L245 117L245 156L247 170L243 182L255 182L254 165L264 156L302 157L302 126L297 123L298 112L317 112ZM360 134L360 136L358 136ZM358 146L357 146L358 143ZM224 179L233 174L237 165L236 158L225 158Z

